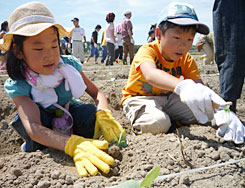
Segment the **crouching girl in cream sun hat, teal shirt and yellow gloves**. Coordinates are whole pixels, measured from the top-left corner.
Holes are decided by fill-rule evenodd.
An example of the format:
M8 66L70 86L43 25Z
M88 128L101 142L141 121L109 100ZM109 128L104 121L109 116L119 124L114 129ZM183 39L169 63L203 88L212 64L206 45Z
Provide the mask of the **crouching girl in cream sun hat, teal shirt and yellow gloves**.
M25 139L22 150L43 146L63 150L73 157L80 175L87 176L86 170L96 175L96 167L108 173L113 158L101 151L108 143L84 137L99 138L101 131L107 141L116 141L122 127L108 110L104 94L82 72L80 62L60 56L59 39L68 33L39 2L18 7L10 15L9 26L0 48L8 51L10 78L4 86L18 111L11 126ZM74 99L84 91L97 108ZM56 115L65 122L63 127Z

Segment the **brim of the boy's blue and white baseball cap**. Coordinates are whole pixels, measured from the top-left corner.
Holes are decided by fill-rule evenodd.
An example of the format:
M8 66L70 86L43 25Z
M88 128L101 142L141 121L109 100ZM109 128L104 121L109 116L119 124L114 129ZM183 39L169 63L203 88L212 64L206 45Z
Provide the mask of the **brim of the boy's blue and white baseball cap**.
M196 20L193 20L191 18L174 18L174 19L168 19L167 20L168 22L172 22L176 25L196 25L197 28L196 28L196 31L198 33L201 33L201 34L204 34L204 35L207 35L209 33L209 28L207 25L199 22L199 21L196 21Z

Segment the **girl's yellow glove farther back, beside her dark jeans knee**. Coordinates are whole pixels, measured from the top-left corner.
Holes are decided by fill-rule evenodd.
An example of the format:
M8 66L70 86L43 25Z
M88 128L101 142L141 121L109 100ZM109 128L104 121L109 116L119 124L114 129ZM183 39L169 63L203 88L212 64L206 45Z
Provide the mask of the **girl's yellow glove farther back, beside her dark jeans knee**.
M98 139L101 131L108 142L116 142L123 131L122 126L112 117L110 110L100 110L96 113L94 139Z

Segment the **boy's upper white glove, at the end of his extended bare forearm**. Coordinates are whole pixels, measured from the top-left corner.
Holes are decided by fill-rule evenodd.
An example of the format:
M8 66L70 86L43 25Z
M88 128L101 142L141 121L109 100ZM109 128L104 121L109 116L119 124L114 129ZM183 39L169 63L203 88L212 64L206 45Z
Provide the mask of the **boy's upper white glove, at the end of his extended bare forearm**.
M197 121L202 124L214 118L212 102L219 106L231 104L231 102L225 102L207 86L196 84L190 79L181 81L175 87L174 92L180 96L180 100L187 104Z

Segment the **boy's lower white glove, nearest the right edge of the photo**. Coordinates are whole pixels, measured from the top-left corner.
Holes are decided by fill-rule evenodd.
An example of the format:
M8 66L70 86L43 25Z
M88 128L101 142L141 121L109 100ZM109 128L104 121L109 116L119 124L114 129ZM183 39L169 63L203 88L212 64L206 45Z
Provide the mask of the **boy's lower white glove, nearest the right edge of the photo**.
M226 113L225 119L227 119L227 122L218 128L218 130L216 131L216 136L219 138L223 137L224 140L226 141L233 141L235 144L244 143L244 137L245 137L244 125L242 124L242 122L239 120L239 118L236 116L234 112L230 111L225 113ZM223 115L221 116L215 115L214 117L216 122L219 122L220 120L218 117L222 117L222 116Z

